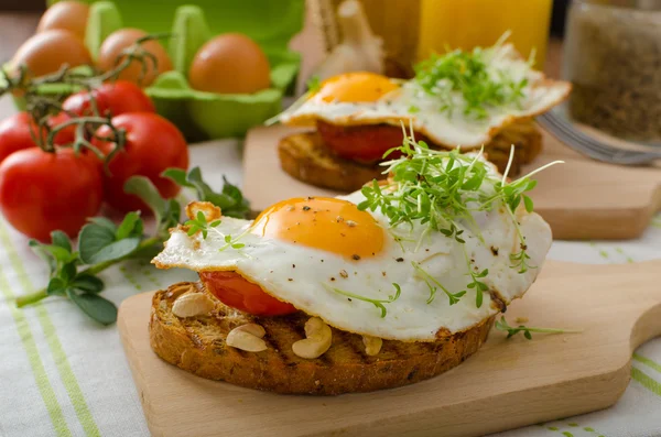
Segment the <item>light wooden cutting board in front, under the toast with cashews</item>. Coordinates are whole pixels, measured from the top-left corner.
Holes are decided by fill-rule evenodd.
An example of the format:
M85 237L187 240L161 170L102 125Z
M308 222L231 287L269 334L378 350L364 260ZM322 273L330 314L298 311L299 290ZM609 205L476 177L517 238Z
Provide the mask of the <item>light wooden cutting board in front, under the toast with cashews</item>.
M478 436L613 405L632 350L661 335L661 261L549 261L508 321L582 334L492 331L462 365L414 385L336 397L264 393L182 371L150 349L152 293L128 298L119 331L154 436Z

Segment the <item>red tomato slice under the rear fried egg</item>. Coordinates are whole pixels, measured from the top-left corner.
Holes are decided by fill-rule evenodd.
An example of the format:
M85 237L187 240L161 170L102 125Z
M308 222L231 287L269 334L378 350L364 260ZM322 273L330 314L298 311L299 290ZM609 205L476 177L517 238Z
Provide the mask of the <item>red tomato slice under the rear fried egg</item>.
M317 121L317 132L324 144L337 156L365 163L380 161L383 153L402 145L402 129L388 124L343 127ZM415 140L425 140L414 133ZM426 140L425 140L426 141ZM400 154L391 154L398 157Z

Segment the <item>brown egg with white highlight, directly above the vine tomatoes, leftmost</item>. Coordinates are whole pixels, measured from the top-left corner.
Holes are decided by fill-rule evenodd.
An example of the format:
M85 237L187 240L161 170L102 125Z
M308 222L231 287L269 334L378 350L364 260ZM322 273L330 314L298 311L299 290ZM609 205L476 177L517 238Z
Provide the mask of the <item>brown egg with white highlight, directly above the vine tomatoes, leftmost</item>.
M54 73L67 64L69 67L90 64L89 52L74 33L59 29L37 33L25 41L14 54L11 65L28 66L32 77Z

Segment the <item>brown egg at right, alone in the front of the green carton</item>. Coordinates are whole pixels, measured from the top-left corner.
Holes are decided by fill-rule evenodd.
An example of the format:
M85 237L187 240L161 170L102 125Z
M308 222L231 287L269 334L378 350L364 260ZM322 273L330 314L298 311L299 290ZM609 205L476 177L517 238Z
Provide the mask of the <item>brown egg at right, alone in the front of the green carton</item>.
M271 86L264 52L246 35L228 33L208 41L193 58L191 87L218 94L252 94Z

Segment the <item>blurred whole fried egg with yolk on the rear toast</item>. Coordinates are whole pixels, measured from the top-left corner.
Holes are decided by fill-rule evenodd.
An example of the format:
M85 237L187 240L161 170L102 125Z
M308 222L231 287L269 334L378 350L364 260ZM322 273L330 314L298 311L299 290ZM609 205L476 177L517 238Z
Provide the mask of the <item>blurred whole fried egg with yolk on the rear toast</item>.
M336 125L412 123L413 129L438 146L463 150L488 143L502 128L545 112L564 100L571 85L546 79L533 70L511 44L484 51L488 72L498 76L507 72L511 80L523 79L521 100L517 106L487 107L486 117L464 114L465 101L458 91L451 92L454 110L441 111L438 98L426 94L414 80L402 81L373 73L348 73L330 77L318 90L310 92L279 116L290 125L314 125L323 120Z

